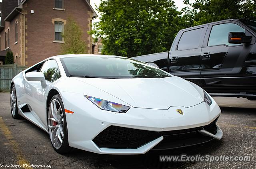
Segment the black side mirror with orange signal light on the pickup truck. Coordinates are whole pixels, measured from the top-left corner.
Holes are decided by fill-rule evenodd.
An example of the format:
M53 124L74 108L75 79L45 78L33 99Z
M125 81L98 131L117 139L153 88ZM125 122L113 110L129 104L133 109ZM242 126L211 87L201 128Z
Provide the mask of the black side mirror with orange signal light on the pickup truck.
M252 36L246 36L244 32L229 32L228 43L240 44L240 43L251 43Z

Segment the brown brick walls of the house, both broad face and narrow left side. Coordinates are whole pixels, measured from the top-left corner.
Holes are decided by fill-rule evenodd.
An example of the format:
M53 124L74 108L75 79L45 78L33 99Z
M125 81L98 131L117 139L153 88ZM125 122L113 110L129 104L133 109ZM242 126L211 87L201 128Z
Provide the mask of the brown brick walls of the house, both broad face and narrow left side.
M34 13L31 13L31 10L34 10ZM54 9L54 0L26 0L21 12L25 17L18 14L11 22L5 22L5 29L0 32L2 51L5 49L5 31L10 29L10 49L18 65L31 66L48 57L59 55L62 43L54 42L54 21L66 24L69 16L82 28L86 51L92 53L91 36L88 34L91 29L92 11L85 0L64 0L64 10ZM15 44L16 21L18 43Z

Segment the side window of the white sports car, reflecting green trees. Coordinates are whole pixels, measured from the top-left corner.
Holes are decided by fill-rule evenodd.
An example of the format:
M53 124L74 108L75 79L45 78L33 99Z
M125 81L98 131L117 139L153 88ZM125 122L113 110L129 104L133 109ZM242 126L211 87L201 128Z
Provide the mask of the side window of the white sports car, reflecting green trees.
M41 67L40 72L44 74L46 81L51 82L57 69L58 65L56 61L51 59L44 62L44 65Z

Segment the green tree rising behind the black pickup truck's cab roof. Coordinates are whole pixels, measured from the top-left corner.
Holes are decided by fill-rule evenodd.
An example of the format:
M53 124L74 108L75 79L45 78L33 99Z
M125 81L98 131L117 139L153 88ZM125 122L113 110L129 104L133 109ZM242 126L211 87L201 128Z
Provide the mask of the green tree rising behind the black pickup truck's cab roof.
M254 0L184 0L189 7L183 9L186 27L206 24L226 19L256 18Z

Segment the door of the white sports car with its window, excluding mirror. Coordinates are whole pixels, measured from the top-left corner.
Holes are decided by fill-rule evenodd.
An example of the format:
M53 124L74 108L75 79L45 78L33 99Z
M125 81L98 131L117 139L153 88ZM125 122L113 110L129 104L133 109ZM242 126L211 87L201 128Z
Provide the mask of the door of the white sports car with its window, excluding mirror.
M54 59L46 60L39 70L44 74L46 87L42 87L40 82L26 81L26 97L30 107L30 112L43 127L46 127L46 97L49 87L53 81L60 78L57 62Z

